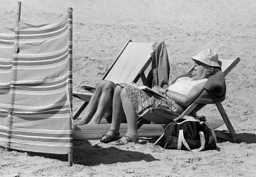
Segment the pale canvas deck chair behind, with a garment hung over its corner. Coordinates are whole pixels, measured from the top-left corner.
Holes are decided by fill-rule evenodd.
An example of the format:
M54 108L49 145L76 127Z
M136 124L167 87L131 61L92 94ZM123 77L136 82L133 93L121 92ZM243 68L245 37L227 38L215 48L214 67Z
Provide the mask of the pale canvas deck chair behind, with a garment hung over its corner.
M153 52L152 45L153 43L132 42L129 40L102 79L113 81L114 83L131 81L136 83L141 78L144 84L146 80L144 71L152 62L150 55ZM85 109L92 95L92 92L73 91L73 96L85 101L74 114L74 120Z

